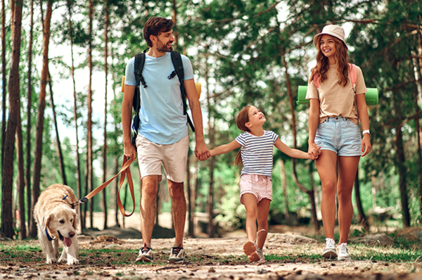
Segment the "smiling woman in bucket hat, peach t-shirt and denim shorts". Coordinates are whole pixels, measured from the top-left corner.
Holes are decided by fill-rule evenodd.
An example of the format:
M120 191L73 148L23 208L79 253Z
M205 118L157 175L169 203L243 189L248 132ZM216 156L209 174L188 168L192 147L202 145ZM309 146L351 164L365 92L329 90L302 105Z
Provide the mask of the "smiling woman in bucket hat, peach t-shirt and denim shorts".
M321 147L316 169L321 178L321 215L326 234L326 248L322 256L350 260L347 236L353 215L353 182L360 157L371 151L366 86L362 70L357 66L353 70L354 65L348 63L350 58L342 27L325 26L314 37L314 45L318 54L316 66L309 77L306 97L310 99L308 154L316 146ZM353 72L357 74L356 85L350 80ZM360 135L359 120L363 138ZM340 230L338 255L334 241L336 191Z

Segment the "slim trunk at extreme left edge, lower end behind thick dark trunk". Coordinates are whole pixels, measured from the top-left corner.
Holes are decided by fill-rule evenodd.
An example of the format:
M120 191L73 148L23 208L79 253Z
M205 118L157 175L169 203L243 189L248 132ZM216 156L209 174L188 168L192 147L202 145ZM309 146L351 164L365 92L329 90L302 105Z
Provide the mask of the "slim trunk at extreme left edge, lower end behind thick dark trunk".
M3 99L1 102L1 169L3 169L4 141L6 140L6 20L4 0L1 0L1 81Z

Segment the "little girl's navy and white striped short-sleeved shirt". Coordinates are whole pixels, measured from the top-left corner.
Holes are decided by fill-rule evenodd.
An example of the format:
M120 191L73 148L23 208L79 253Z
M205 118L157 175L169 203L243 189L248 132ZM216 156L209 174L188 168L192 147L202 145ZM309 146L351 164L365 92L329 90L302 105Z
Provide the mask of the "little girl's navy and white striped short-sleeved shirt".
M273 146L277 139L279 136L269 131L264 131L262 136L254 136L249 132L237 136L236 141L241 144L241 174L260 174L271 179Z

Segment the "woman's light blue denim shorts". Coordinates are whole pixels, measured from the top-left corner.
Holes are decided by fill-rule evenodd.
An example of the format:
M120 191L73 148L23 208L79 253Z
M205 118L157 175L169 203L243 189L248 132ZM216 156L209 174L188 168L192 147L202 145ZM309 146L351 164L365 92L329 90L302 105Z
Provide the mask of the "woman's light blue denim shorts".
M361 156L362 136L359 125L345 117L328 117L316 129L315 144L339 156Z

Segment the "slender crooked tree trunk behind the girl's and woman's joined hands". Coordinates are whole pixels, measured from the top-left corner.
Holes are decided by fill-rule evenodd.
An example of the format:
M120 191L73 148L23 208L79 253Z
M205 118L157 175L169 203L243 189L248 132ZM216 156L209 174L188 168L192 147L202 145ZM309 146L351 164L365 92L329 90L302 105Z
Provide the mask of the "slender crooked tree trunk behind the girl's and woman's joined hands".
M283 65L284 68L286 68L286 87L287 87L287 93L288 93L288 100L290 103L290 114L292 116L292 131L293 131L293 148L298 148L298 144L297 144L297 140L296 140L296 119L295 119L295 104L293 101L293 94L292 94L292 87L290 85L290 76L288 75L288 65L287 65L287 61L286 61L286 56L282 56L283 59ZM315 205L315 191L314 189L306 189L305 186L303 186L302 184L300 184L298 177L296 176L296 159L292 158L292 169L293 169L293 180L295 181L296 186L298 186L298 188L307 193L307 195L309 196L309 201L311 203L311 215L312 215L312 220L314 221L314 230L315 232L319 231L319 223L318 223L318 219L316 217L316 205Z

